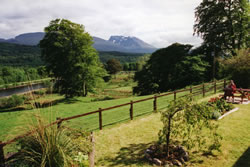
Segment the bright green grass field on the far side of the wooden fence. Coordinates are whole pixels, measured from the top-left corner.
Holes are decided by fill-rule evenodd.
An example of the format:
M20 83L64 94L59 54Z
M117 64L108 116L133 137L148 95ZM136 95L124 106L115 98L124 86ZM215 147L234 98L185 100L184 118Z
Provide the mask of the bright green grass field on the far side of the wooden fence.
M189 92L182 92L177 94L177 98L189 94ZM212 91L210 92L212 94ZM32 95L31 95L32 96ZM40 114L46 120L54 121L56 117L69 117L82 113L98 110L99 108L111 107L114 105L128 103L131 100L144 99L149 96L130 96L127 98L96 101L96 97L78 97L72 99L65 99L63 96L51 94L40 99L34 99L34 101L49 101L56 100L56 104L47 108L37 108L32 110L3 110L0 112L0 140L6 141L13 138L13 135L22 134L23 132L16 127L24 126L27 122L30 122L34 117L34 114ZM164 96L157 99L158 110L167 106L170 100L173 100L174 96ZM103 126L113 125L122 121L130 119L129 115L130 105L112 109L103 112ZM143 114L151 113L153 111L153 99L134 104L134 116L140 116ZM99 127L98 113L89 115L86 117L77 118L71 121L64 122L63 124L72 128L95 130Z

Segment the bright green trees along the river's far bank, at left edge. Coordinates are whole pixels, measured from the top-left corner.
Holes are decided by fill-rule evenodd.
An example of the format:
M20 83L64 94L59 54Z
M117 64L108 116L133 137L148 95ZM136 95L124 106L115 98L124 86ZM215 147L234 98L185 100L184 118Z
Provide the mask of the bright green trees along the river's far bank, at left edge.
M44 67L0 66L0 85L32 81L47 77Z

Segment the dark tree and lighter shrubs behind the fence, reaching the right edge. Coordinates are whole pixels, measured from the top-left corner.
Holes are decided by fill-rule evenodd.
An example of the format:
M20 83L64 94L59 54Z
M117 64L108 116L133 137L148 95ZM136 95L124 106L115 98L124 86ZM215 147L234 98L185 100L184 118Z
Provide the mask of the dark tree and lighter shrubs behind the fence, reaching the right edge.
M174 43L154 52L142 69L135 73L138 83L133 92L148 95L208 82L233 79L237 87L250 86L249 48L236 51L236 56L214 57L207 48Z

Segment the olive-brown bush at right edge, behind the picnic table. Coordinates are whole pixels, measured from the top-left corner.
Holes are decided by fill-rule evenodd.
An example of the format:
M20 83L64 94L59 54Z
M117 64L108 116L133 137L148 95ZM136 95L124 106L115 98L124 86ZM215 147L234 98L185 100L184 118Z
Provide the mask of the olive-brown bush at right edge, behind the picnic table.
M221 59L221 75L234 80L237 87L250 88L250 49L241 49L237 56Z

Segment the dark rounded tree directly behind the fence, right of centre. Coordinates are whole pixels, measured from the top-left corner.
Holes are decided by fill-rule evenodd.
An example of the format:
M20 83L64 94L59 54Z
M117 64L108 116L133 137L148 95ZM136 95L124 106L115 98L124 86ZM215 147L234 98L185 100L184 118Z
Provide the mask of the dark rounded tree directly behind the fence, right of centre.
M193 56L191 45L172 44L154 52L141 71L135 73L139 95L165 92L204 81L208 64Z

